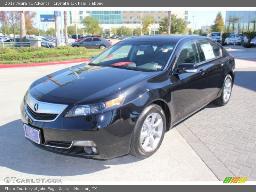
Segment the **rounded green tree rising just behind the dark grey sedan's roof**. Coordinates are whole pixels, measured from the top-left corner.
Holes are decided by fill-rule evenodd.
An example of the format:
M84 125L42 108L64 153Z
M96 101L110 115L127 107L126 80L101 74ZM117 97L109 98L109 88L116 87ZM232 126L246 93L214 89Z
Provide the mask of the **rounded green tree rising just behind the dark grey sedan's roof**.
M100 22L93 17L85 17L83 23L85 27L85 32L87 32L88 34L99 34L102 31L102 28L100 27Z

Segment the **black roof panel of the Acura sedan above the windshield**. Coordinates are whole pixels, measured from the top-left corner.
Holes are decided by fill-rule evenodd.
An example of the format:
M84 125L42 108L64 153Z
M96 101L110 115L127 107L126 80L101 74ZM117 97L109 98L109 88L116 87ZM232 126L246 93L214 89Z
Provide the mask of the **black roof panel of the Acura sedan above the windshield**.
M161 42L178 42L180 39L204 39L206 36L198 35L146 35L146 36L132 36L123 41L161 41Z

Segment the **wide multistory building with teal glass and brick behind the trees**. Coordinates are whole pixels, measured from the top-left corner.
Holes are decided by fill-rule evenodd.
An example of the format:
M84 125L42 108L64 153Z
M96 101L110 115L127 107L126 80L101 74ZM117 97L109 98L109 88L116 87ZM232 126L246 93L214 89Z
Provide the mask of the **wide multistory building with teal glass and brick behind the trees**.
M192 24L188 21L188 11L172 11L172 14L176 14L178 18L182 18L187 22L184 33L188 33L189 29L192 28ZM168 11L69 11L68 25L77 23L78 28L84 28L82 20L86 16L92 16L94 19L99 20L103 32L108 35L113 35L111 34L111 28L118 28L122 25L133 29L136 27L141 28L142 19L150 16L156 22L150 25L149 33L159 34L159 22L168 16Z

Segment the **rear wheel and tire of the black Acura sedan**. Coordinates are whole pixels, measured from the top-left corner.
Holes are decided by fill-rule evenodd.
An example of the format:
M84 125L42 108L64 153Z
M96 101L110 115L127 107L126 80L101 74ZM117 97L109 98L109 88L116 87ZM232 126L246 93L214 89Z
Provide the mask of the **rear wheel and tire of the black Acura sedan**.
M227 82L228 82L228 84L227 84ZM230 83L230 85L229 85L229 83ZM227 85L228 85L228 87L227 87ZM226 76L224 84L222 86L221 96L218 99L214 100L213 102L216 105L226 105L230 99L232 87L233 87L232 77L228 74Z

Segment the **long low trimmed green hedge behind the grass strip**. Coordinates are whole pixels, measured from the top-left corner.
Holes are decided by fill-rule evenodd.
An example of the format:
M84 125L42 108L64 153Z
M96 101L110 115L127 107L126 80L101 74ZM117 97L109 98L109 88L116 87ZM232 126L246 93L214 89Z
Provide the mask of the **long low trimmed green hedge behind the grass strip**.
M0 48L0 60L21 60L86 54L84 47L59 46L56 48L22 47L18 49Z

